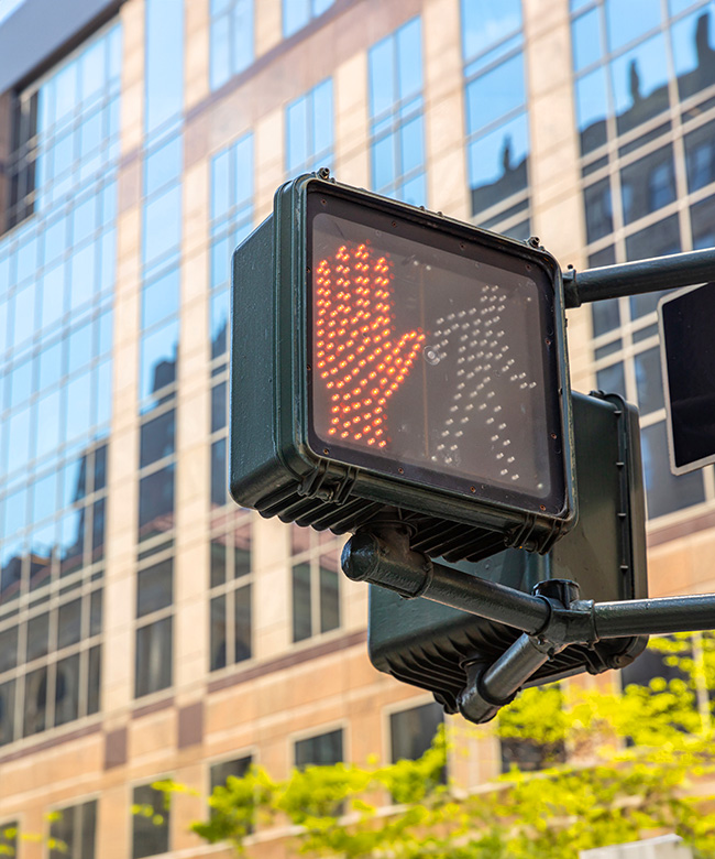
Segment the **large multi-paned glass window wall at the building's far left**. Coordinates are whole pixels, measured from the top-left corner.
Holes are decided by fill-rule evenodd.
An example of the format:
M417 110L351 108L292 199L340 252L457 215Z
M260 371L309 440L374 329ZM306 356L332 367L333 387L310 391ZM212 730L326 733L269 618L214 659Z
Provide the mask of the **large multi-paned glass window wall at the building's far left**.
M121 37L106 26L16 96L15 226L0 239L0 744L99 709Z

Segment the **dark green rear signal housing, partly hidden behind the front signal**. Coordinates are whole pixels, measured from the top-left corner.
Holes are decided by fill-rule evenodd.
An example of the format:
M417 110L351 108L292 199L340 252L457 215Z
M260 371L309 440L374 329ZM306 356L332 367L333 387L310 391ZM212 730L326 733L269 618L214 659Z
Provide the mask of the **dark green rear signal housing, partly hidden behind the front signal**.
M647 596L645 500L638 418L618 396L573 394L579 523L546 556L508 550L460 569L530 592L539 581L572 579L595 601ZM519 633L427 599L405 600L371 586L370 657L381 671L430 689L448 711L468 683L465 664L492 663ZM646 639L572 645L536 673L543 683L581 671L623 667Z

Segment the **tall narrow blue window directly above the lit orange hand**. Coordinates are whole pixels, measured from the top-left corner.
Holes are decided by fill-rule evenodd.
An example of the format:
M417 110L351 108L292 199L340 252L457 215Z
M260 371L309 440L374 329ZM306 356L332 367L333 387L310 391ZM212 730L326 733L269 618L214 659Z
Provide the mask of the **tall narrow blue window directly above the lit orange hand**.
M372 186L415 206L427 203L421 39L415 18L367 55Z

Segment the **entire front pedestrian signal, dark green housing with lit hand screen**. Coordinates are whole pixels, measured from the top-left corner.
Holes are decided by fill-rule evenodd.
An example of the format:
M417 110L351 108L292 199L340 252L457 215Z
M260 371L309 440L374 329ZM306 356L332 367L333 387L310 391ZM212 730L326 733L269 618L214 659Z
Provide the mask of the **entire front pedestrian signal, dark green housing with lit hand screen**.
M546 251L306 175L233 257L230 490L450 561L576 520L561 271Z

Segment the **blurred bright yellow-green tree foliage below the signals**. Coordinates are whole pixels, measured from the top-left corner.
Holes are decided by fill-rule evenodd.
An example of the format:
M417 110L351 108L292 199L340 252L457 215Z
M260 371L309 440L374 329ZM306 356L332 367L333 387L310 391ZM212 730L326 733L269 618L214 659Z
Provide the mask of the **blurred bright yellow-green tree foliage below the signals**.
M296 853L315 857L576 859L662 831L715 856L715 797L703 790L715 774L715 639L653 646L682 676L622 695L572 686L565 700L557 686L527 689L503 711L501 737L543 749L538 772L513 769L465 794L443 784L440 733L421 759L387 766L309 766L284 781L253 768L217 787L209 818L191 828L237 856L251 855L255 829L286 824Z

